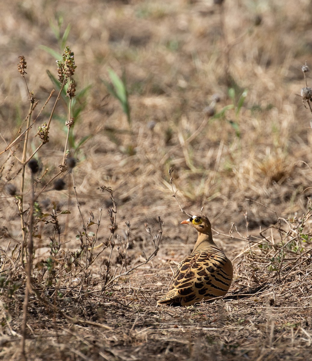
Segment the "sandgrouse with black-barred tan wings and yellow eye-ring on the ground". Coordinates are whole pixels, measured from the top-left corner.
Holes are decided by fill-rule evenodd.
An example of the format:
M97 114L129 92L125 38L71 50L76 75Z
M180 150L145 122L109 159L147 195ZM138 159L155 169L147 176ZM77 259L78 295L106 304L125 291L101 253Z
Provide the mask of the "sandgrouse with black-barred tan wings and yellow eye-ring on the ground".
M195 214L181 224L193 226L198 239L192 253L179 263L170 290L157 305L190 306L224 296L231 286L233 266L213 242L209 219Z

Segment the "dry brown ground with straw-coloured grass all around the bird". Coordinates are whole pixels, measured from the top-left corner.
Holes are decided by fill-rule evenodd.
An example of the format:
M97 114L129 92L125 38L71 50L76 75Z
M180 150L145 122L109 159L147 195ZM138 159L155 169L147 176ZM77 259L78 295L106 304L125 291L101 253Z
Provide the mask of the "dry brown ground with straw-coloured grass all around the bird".
M64 189L49 183L66 139L68 108L61 100L49 142L36 155L36 193L48 184L36 217L41 212L51 221L54 204L60 248L52 244L53 223L38 222L26 357L312 360L312 130L300 97L306 87L301 66L312 66L311 1L25 0L1 6L0 358L21 357L26 288L18 192L8 191L8 184L20 187L22 139L3 152L29 113L18 56L26 58L25 78L39 101L35 119L55 87L47 70L57 76L56 59L40 45L62 54L70 24L65 46L75 54L77 92L86 89L76 95L81 110L67 147L78 162L73 174L62 175ZM108 69L125 73L131 122L108 93ZM31 129L29 156L55 100L56 93ZM233 262L233 283L221 300L156 306L196 240L191 227L179 224L188 216L172 197L170 167L178 202L191 215L203 207L216 243ZM28 212L28 168L25 184ZM114 203L101 186L113 189L114 243L107 213ZM70 213L60 214L64 210ZM84 248L87 259L77 252L81 223L89 217L95 224L88 229L97 234L90 236L95 248ZM157 255L146 263L159 240Z

